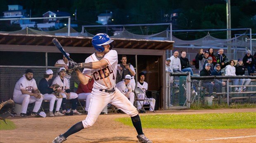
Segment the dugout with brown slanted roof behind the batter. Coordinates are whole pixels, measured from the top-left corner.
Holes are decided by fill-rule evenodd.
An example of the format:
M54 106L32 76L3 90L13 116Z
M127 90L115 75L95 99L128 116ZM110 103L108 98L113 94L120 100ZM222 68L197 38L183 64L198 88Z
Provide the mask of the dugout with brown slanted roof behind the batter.
M0 33L0 66L40 66L52 67L62 58L62 53L52 44L57 38L64 50L71 54L76 62L84 62L95 50L91 44L91 37L68 37L52 35L23 35ZM173 49L173 41L145 40L145 39L114 39L114 50L119 56L127 55L130 62L139 72L146 72L145 81L149 90L159 91L159 108L166 109L166 50ZM2 75L1 75L2 76ZM137 78L137 76L136 76ZM40 80L40 79L38 79ZM37 80L36 80L37 81ZM16 81L15 81L16 83ZM15 84L14 83L14 84ZM38 81L37 81L38 83ZM1 81L1 85L5 84ZM1 86L1 91L4 86ZM12 92L7 99L12 98ZM1 93L1 96L6 93ZM1 99L5 99L2 98Z

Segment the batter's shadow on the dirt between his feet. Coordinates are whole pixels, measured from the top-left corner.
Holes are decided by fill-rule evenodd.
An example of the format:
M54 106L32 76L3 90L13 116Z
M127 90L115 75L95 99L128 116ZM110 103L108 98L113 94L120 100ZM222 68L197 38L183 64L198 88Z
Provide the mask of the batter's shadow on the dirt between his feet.
M76 136L77 138L81 138L81 141L85 140L86 143L102 143L109 141L128 141L129 143L137 143L137 140L132 140L128 136L115 136L113 138L97 138L97 141L91 138L84 138L82 136Z

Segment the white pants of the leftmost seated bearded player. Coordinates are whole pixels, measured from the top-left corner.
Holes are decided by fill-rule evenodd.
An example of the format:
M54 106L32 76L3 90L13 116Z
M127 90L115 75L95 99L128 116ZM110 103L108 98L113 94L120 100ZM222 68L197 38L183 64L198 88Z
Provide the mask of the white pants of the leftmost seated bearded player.
M21 104L21 113L27 113L28 104L34 103L35 106L33 108L33 112L38 112L42 101L43 101L43 95L41 94L41 98L37 99L36 97L30 96L30 95L15 95L13 96L13 101L17 104Z

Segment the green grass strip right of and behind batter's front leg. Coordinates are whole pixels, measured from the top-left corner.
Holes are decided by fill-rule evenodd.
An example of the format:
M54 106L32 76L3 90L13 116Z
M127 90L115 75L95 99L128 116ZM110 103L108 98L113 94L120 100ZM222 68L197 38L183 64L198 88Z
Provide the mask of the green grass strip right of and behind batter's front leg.
M256 128L256 113L207 113L187 115L145 115L140 117L143 128L161 129L246 129ZM117 118L133 126L130 118Z

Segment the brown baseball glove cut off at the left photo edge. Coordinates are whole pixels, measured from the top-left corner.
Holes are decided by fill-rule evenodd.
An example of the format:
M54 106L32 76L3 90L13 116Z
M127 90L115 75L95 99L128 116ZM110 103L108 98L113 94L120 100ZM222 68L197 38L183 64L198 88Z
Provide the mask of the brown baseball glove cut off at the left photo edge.
M0 119L5 121L11 115L12 108L14 108L14 101L12 99L2 102L0 104Z

